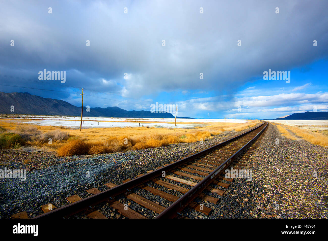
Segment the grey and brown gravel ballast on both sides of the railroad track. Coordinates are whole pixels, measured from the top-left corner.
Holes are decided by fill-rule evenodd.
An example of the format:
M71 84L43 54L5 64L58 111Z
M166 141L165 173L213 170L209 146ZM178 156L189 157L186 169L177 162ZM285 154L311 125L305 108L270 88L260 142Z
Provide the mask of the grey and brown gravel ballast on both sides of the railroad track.
M217 135L206 139L203 145L200 142L179 143L103 155L58 157L54 153L1 150L2 169L6 167L28 171L26 181L0 179L0 218L9 218L22 211L26 211L29 217L36 216L43 213L41 205L52 203L61 207L69 203L66 200L68 196L77 194L81 198L87 197L90 195L87 189L95 187L100 191L106 190L104 184L107 182L120 184L127 178L133 179L138 174L189 156L245 131ZM276 138L279 144L275 143ZM327 148L304 140L286 139L280 135L276 126L270 124L260 147L247 161L247 169L253 170L253 180L248 182L237 178L231 183L229 193L224 196L212 195L220 198L220 201L217 204L204 203L214 210L209 217L195 210L187 209L186 212L189 217L196 218L326 217L326 168ZM317 177L313 177L314 171ZM154 187L158 188L156 185ZM139 194L154 196L145 190L139 191ZM170 204L162 198L156 201L165 207ZM133 202L130 205L130 208L147 215L147 210L139 210L139 205ZM106 204L102 209L102 213L109 218L122 217ZM149 217L154 215L156 213Z

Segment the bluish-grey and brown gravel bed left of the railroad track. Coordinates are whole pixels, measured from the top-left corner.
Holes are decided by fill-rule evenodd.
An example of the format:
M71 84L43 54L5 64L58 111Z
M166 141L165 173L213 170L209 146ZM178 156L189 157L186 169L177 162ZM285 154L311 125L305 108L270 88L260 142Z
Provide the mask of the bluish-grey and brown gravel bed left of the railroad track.
M30 217L42 212L41 205L52 203L57 208L69 204L66 197L90 194L87 189L104 191L108 182L120 184L154 170L158 166L189 156L246 132L225 132L204 140L203 144L178 143L163 147L102 155L58 157L51 152L1 150L0 164L4 169L27 169L26 181L0 179L0 218L26 211ZM0 169L1 169L0 168ZM87 173L88 172L88 173Z

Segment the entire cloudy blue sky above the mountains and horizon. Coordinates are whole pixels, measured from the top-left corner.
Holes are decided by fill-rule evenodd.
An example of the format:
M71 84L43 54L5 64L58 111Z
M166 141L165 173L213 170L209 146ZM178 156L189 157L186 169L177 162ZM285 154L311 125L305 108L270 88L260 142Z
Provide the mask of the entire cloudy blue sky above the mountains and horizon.
M321 0L1 1L0 91L81 106L84 88L84 106L158 102L192 118L327 111L327 9ZM40 80L44 69L65 71L65 83ZM269 69L290 79L265 79Z

